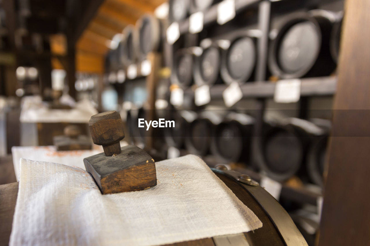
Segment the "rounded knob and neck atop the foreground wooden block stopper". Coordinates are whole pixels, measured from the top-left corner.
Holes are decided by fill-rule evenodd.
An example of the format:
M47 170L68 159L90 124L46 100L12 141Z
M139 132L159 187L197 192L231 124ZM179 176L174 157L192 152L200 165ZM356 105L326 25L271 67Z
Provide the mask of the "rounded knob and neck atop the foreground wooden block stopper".
M92 141L103 146L105 156L121 153L120 141L124 139L121 116L116 111L107 111L91 116L89 121Z

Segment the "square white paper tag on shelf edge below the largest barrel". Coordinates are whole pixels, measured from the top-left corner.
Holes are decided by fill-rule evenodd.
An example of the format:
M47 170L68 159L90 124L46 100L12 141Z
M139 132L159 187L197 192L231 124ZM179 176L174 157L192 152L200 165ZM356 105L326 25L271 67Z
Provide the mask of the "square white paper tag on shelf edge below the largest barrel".
M277 103L298 102L300 98L300 79L284 79L276 82L274 100Z

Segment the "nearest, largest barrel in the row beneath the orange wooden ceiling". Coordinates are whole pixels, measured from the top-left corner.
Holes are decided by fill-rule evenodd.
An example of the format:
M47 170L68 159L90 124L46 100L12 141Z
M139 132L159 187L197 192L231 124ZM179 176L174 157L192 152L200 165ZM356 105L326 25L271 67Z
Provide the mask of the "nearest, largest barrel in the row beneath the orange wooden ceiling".
M138 30L138 53L145 59L149 52L159 51L161 47L162 23L151 15L142 16L136 23Z

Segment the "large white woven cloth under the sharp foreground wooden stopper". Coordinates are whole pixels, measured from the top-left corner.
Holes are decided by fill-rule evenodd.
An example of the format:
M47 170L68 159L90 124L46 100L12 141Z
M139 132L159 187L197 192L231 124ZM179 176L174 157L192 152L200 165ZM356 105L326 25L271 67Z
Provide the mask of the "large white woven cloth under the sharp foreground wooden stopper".
M155 187L101 195L82 169L21 159L10 245L163 245L262 226L199 157L156 169Z

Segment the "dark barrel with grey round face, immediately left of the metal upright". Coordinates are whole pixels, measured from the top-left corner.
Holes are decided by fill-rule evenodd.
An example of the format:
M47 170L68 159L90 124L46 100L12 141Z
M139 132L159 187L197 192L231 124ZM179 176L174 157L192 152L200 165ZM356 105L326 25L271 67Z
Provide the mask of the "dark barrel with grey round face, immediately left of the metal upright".
M256 66L255 40L239 37L233 40L227 50L222 51L221 78L226 84L248 81Z

